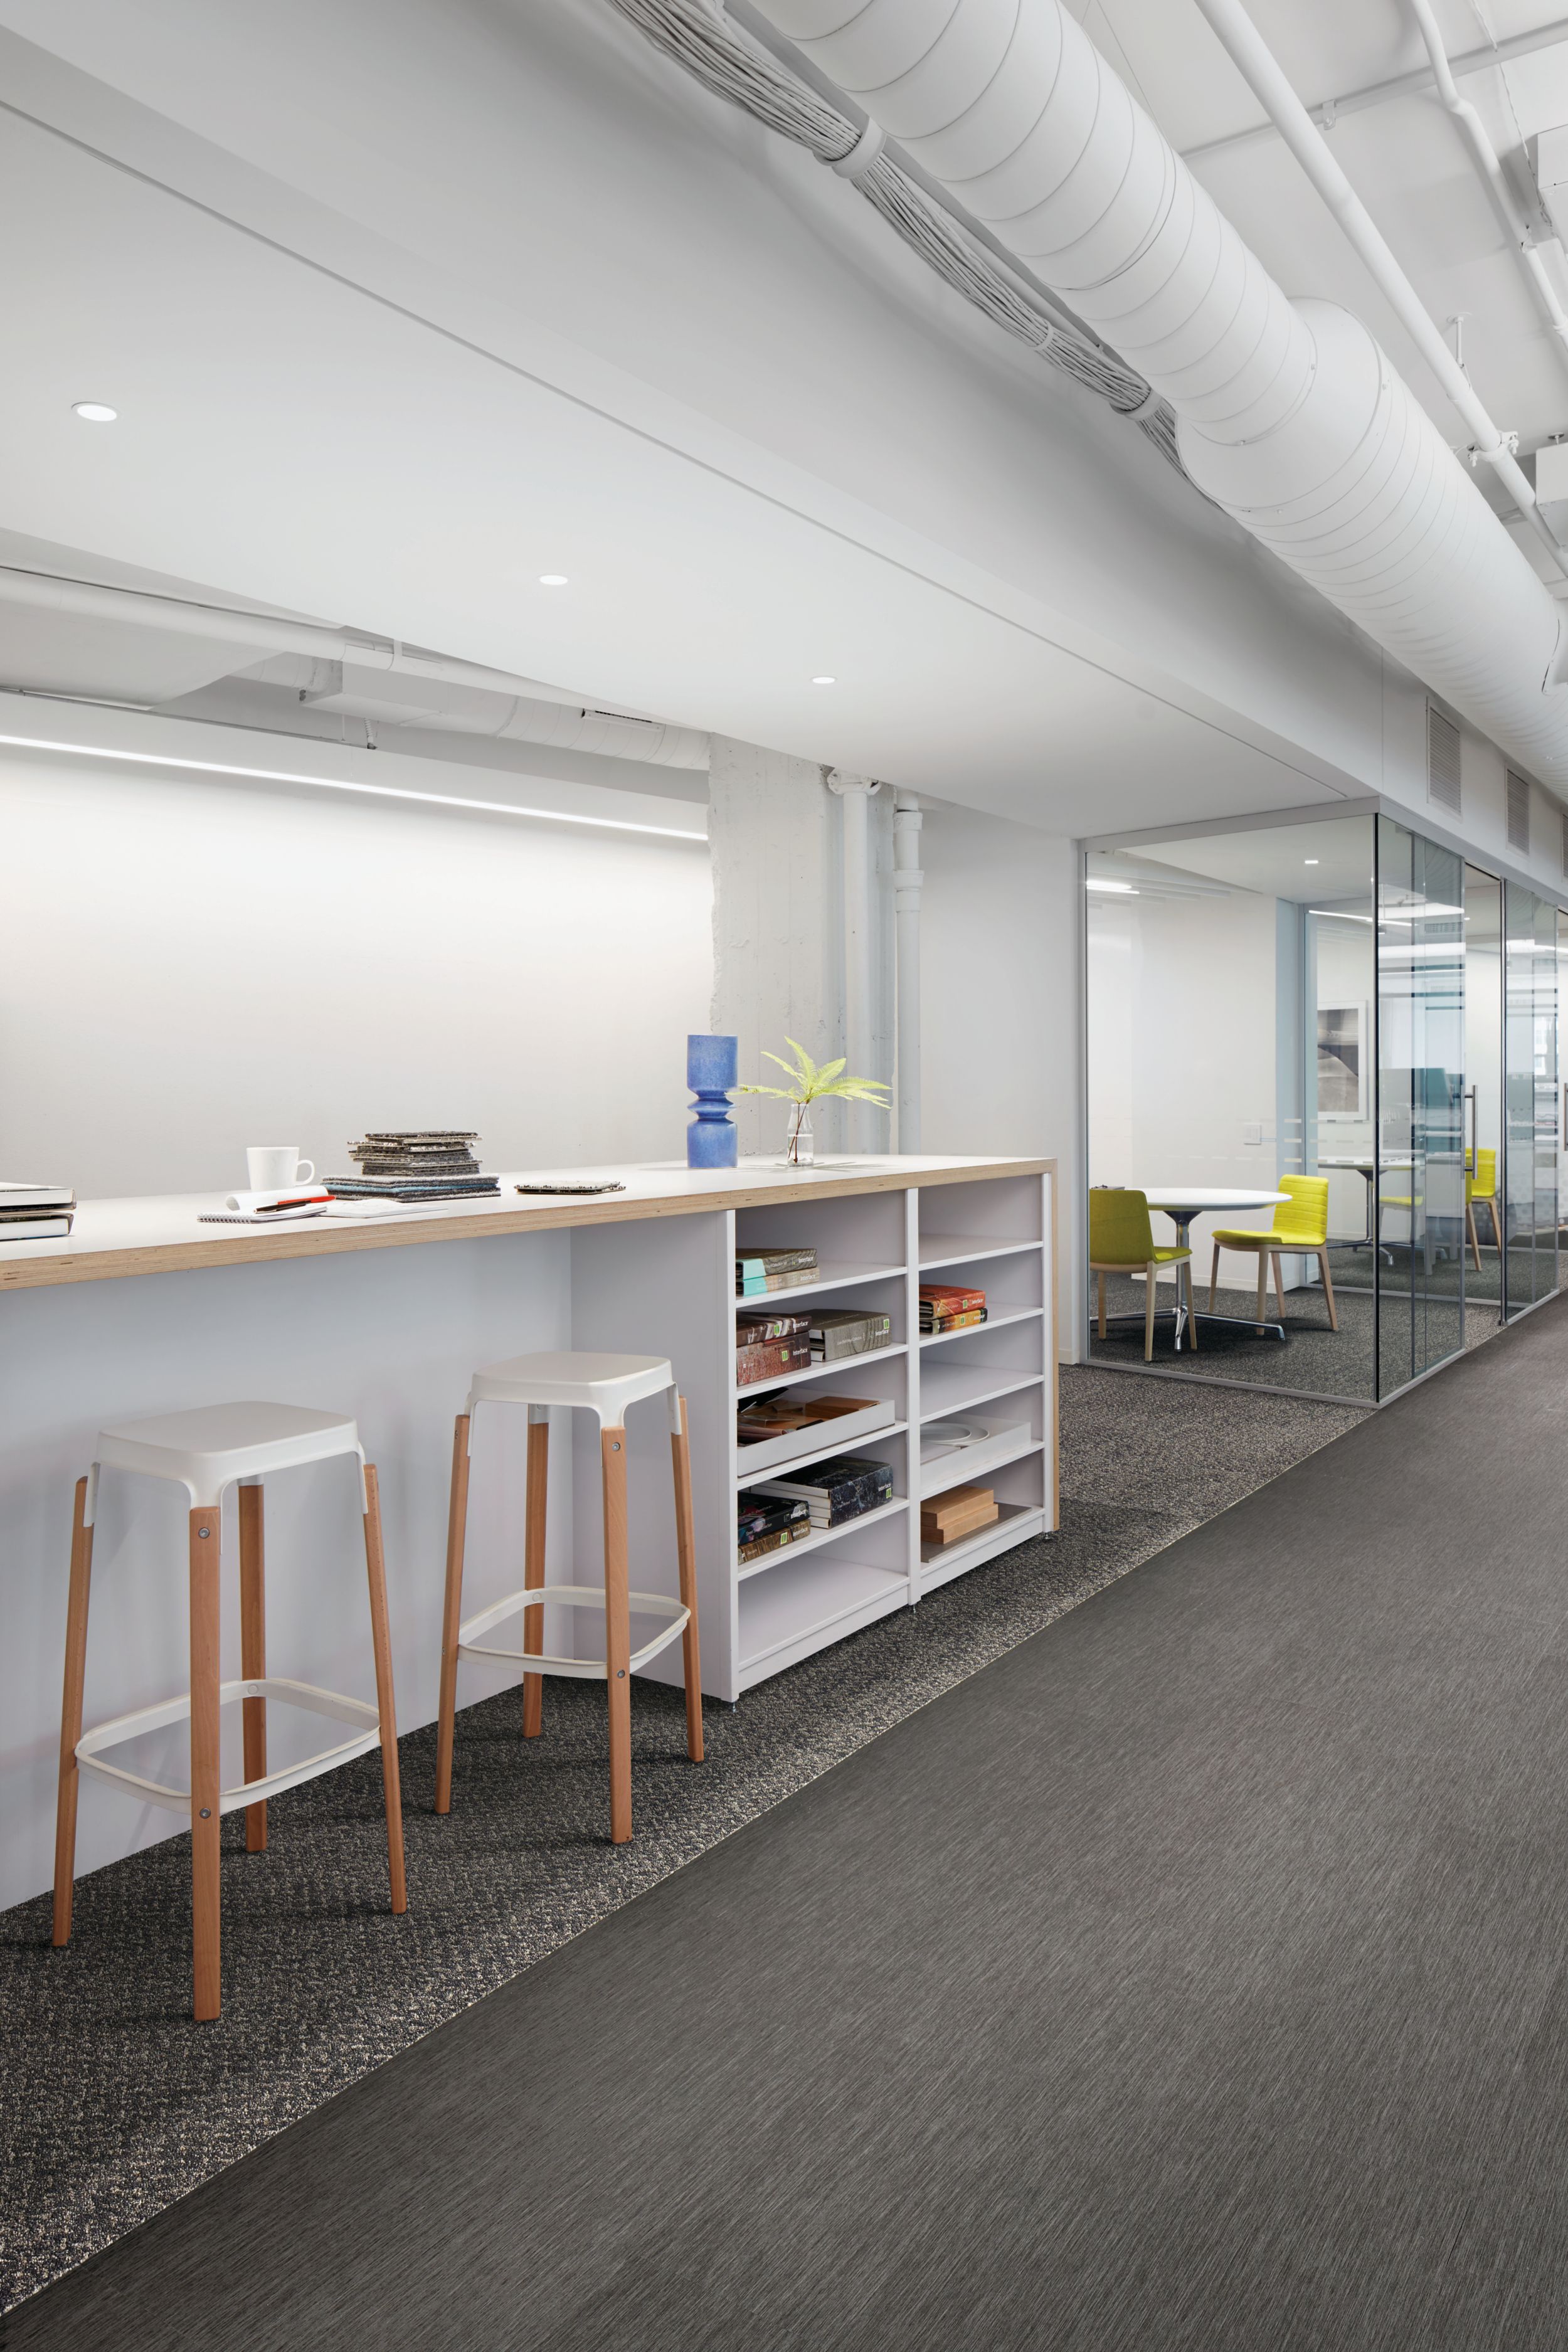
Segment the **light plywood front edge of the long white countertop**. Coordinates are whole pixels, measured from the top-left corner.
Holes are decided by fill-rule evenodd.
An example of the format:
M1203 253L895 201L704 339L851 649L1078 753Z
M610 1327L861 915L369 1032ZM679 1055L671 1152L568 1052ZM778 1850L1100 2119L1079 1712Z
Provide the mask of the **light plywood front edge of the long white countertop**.
M849 1192L907 1192L924 1185L985 1183L997 1176L1056 1176L1056 1160L966 1160L919 1169L877 1169L867 1176L825 1176L811 1183L755 1183L724 1192L665 1192L642 1200L541 1202L536 1209L484 1209L386 1225L299 1223L273 1232L235 1230L223 1240L136 1242L61 1251L49 1258L0 1256L0 1291L40 1291L61 1282L118 1282L127 1275L186 1275L209 1265L263 1265L277 1258L336 1258L355 1249L411 1249L428 1242L489 1242L515 1232L559 1232L562 1225L630 1225L656 1216L712 1216L719 1209L780 1209Z

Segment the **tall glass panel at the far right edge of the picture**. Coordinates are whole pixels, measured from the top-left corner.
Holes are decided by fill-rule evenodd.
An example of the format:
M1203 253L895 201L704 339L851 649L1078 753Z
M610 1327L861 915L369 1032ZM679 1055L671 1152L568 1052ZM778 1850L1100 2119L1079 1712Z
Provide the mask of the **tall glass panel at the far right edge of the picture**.
M1556 906L1505 887L1505 1315L1556 1289Z

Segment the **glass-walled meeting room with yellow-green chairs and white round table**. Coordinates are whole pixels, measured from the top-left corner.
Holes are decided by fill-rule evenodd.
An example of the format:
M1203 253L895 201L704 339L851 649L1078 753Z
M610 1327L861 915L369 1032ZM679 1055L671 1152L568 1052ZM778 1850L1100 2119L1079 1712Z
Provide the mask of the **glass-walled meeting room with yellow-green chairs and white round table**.
M1091 1362L1387 1402L1556 1291L1554 901L1375 802L1091 844L1084 901ZM1147 1359L1128 1192L1190 1249Z

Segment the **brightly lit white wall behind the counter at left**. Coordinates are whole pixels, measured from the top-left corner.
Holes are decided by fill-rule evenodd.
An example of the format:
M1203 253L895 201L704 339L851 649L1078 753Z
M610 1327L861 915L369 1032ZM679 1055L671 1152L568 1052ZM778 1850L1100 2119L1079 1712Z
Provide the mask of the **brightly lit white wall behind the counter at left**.
M247 1143L348 1174L364 1127L473 1127L491 1167L684 1157L701 840L16 753L0 835L12 1181L207 1190Z

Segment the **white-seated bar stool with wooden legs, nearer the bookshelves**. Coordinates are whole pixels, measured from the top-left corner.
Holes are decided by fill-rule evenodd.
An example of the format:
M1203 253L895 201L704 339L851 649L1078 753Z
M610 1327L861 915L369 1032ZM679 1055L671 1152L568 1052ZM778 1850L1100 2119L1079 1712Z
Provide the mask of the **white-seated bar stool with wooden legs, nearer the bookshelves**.
M675 1550L679 1559L679 1602L668 1592L628 1592L625 1562L625 1409L639 1397L668 1392L670 1461L675 1470ZM480 1404L527 1404L529 1456L522 1534L522 1592L463 1623L463 1538L468 1529L468 1446ZM599 1416L599 1461L604 1472L604 1590L597 1585L545 1583L545 1479L550 1463L550 1406ZM552 1658L543 1651L545 1602L567 1609L604 1611L602 1658ZM630 1611L658 1616L665 1623L632 1653ZM522 1649L489 1649L480 1635L501 1618L524 1611ZM675 1385L663 1355L515 1355L505 1364L484 1364L473 1376L468 1404L456 1418L451 1442L451 1519L447 1531L447 1613L442 1623L442 1703L435 1750L435 1811L451 1811L451 1738L456 1719L458 1658L505 1658L522 1663L522 1733L538 1738L543 1729L543 1675L576 1675L604 1682L609 1689L609 1835L623 1846L632 1835L632 1675L668 1649L684 1644L686 1677L686 1755L703 1762L703 1670L696 1637L696 1538L691 1522L691 1446L686 1399Z

